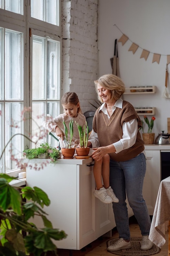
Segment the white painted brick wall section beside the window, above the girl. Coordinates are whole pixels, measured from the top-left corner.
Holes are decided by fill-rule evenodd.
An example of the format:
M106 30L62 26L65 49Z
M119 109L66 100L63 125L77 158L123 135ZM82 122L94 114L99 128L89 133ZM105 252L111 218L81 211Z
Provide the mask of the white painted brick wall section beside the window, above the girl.
M97 99L98 0L62 0L62 95L77 93L82 111Z

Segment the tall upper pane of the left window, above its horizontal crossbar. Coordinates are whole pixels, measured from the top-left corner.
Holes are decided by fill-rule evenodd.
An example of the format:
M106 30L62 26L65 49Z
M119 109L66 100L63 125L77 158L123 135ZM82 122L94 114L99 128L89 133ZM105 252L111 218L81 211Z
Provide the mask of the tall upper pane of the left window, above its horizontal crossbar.
M5 31L5 99L21 99L21 34Z

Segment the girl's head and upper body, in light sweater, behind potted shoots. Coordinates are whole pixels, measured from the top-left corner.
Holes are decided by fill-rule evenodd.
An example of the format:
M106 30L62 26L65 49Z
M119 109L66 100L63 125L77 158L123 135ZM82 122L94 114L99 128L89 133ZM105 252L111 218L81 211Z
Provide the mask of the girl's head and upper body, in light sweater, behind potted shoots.
M60 146L61 148L65 148L64 144L64 125L63 121L68 128L68 140L70 139L70 131L69 131L69 123L70 120L74 120L73 122L73 139L71 142L71 147L75 148L79 145L79 132L76 126L78 123L81 126L86 125L86 117L82 114L82 110L80 108L79 99L75 92L66 92L62 97L62 106L64 109L64 113L55 117L53 119L48 119L42 123L43 127L50 132L55 132L58 137L60 137ZM75 123L76 121L76 123Z

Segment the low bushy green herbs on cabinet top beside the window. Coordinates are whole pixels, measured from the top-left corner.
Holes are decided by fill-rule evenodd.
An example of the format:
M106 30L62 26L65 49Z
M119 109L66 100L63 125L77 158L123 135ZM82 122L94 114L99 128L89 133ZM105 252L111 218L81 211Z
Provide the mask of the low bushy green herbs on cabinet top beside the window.
M38 158L38 155L48 153L53 162L60 157L60 150L53 148L48 142L43 142L38 148L23 150L23 155L28 159Z

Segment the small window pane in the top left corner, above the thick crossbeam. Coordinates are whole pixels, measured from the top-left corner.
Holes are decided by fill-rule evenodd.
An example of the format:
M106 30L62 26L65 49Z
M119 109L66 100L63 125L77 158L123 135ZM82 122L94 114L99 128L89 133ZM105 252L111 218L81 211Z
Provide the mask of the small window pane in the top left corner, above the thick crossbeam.
M0 8L23 15L23 0L0 0Z

